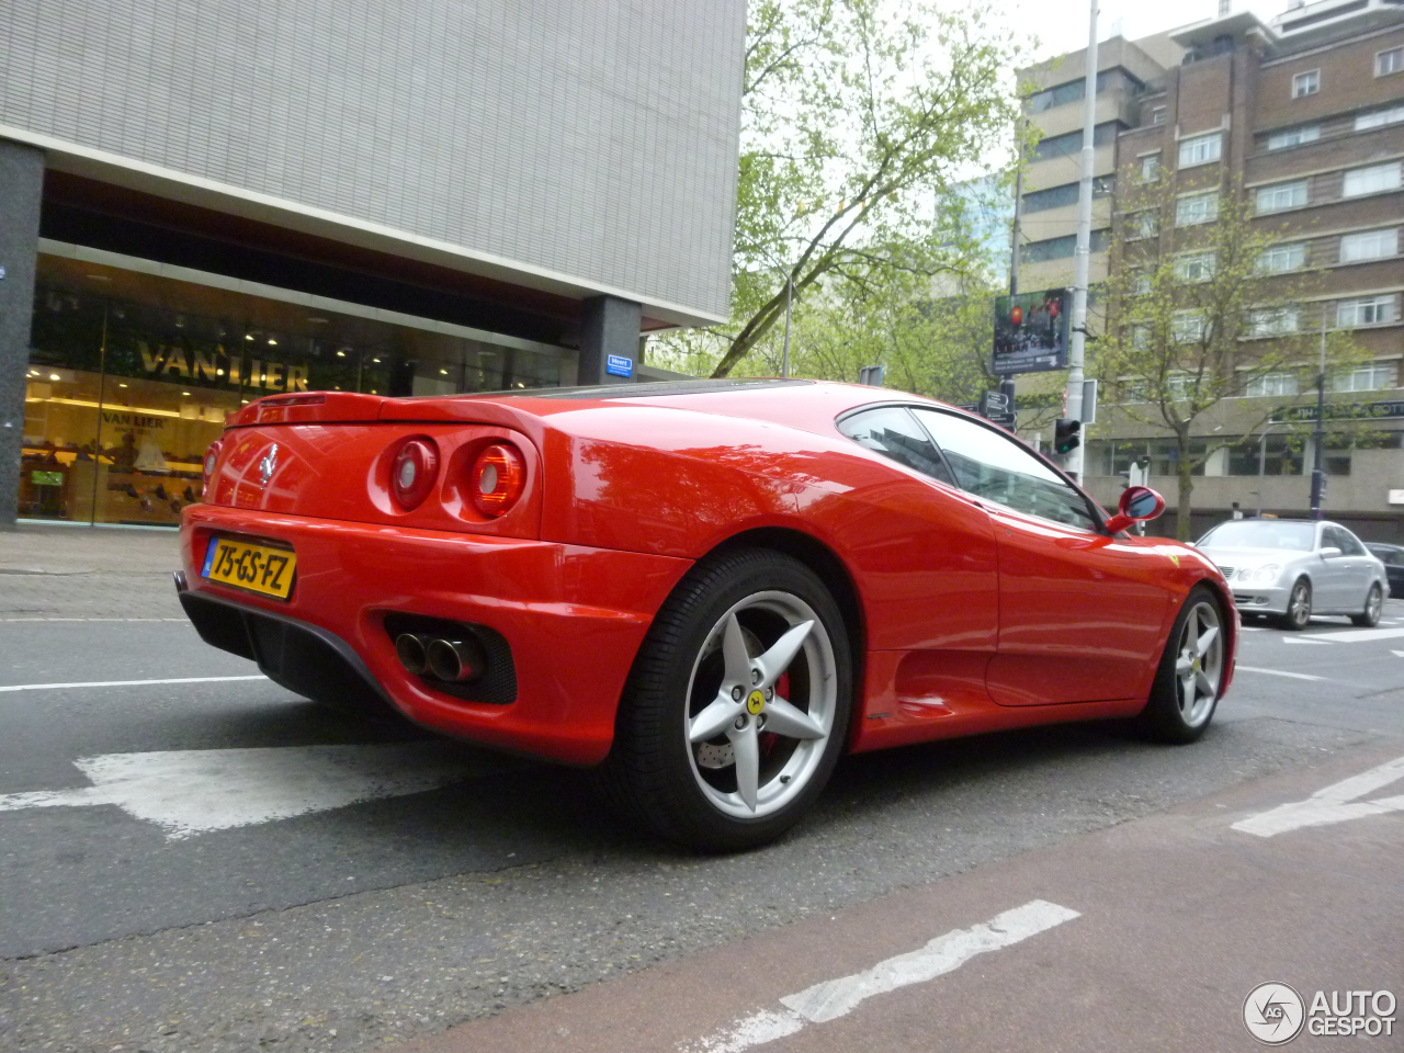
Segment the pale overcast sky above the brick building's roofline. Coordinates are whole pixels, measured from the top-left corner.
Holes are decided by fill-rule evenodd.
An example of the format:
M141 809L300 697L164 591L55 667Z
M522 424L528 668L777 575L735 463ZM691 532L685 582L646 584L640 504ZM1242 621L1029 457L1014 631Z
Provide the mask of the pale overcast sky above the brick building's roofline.
M1088 0L997 0L1009 21L1038 38L1038 58L1049 58L1087 46ZM1287 8L1287 0L1233 0L1231 10L1250 10L1268 21ZM1118 32L1126 39L1150 37L1165 29L1212 18L1219 14L1219 0L1101 0L1097 18L1098 39Z

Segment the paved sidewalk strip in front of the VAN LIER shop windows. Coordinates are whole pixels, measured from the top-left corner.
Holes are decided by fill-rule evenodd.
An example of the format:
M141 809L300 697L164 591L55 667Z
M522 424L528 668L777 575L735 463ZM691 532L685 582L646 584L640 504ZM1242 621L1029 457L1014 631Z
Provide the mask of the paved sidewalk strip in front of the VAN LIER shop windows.
M0 532L0 622L184 619L171 584L178 567L174 529L21 522Z

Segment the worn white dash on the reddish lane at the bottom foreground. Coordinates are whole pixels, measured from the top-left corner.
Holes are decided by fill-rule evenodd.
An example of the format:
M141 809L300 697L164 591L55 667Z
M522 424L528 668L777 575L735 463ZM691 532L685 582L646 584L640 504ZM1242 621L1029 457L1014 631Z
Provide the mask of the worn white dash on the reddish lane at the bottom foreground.
M976 955L1011 946L1077 917L1081 915L1075 910L1047 900L1031 900L979 925L936 936L920 951L889 958L862 973L826 980L797 994L788 994L781 998L783 1009L753 1012L730 1028L684 1049L689 1053L741 1053L751 1046L793 1035L810 1024L827 1024L845 1016L873 995L935 980L955 972Z

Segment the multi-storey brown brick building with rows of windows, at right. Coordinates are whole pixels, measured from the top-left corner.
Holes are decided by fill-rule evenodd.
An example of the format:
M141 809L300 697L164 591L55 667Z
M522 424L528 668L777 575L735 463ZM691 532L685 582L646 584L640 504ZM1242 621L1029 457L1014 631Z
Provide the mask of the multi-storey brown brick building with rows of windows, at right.
M1157 234L1171 251L1188 247L1178 227L1212 218L1221 195L1245 195L1279 239L1265 265L1306 291L1275 324L1316 331L1324 317L1328 329L1351 330L1365 354L1328 386L1332 403L1344 404L1327 413L1327 515L1369 539L1404 541L1404 4L1323 0L1269 24L1236 13L1148 41L1113 39L1099 52L1106 98L1098 100L1098 126L1108 131L1097 150L1092 281L1106 275L1113 222L1157 173L1174 171L1179 195ZM1029 115L1046 138L1019 201L1021 288L1071 284L1080 135L1073 153L1057 150L1081 121L1081 60L1066 56L1026 74L1042 88ZM1092 330L1099 324L1094 314ZM1244 352L1255 347L1245 341ZM1196 534L1234 503L1248 514L1307 514L1311 439L1303 444L1286 424L1254 424L1264 400L1282 416L1314 406L1313 385L1313 365L1303 362L1258 378L1247 397L1199 418L1213 452L1196 469ZM1038 382L1021 389L1036 393ZM1359 424L1332 427L1346 411L1370 421L1366 434ZM1167 431L1104 406L1087 445L1087 483L1101 500L1115 501L1120 473L1148 456L1153 484L1174 507Z

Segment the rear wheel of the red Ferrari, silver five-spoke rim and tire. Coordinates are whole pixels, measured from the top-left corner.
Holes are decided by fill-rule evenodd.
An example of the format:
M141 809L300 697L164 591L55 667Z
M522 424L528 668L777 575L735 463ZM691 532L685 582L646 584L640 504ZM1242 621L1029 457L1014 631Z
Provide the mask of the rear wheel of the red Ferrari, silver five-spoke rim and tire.
M726 552L694 567L654 618L598 781L670 841L753 848L813 806L851 708L847 626L820 578L769 549Z

